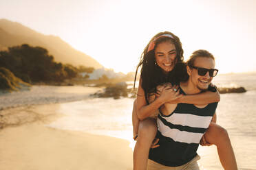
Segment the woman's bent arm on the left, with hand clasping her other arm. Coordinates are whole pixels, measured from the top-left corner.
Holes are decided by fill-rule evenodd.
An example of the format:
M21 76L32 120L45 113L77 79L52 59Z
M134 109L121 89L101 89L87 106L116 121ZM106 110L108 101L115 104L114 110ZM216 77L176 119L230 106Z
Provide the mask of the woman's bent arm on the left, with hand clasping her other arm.
M137 116L138 119L143 120L150 117L151 114L155 113L162 104L169 102L174 99L178 99L181 95L178 92L173 91L171 88L164 88L159 97L157 97L151 104L147 104L145 99L145 92L141 86L141 80L138 86L137 95Z

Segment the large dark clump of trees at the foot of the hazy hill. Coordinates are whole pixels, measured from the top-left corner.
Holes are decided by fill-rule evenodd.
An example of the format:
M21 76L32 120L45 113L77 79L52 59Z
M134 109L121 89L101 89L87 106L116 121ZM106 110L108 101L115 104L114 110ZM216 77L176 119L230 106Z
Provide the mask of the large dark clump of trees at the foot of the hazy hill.
M93 70L85 66L76 68L71 64L55 62L47 49L31 47L27 44L9 47L8 51L0 51L0 66L28 83L63 82L66 79L77 77L80 69Z

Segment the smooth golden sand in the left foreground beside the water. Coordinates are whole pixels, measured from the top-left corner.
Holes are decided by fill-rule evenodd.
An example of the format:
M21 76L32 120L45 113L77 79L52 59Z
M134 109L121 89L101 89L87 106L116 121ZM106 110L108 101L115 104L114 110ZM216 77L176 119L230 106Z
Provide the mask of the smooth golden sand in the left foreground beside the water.
M129 141L47 124L57 120L60 104L1 110L0 167L18 169L132 169ZM1 121L0 121L1 124Z

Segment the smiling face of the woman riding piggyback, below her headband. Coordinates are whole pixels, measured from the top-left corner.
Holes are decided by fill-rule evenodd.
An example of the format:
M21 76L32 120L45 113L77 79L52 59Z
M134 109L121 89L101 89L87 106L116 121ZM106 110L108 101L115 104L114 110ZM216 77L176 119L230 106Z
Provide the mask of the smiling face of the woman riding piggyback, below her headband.
M172 71L175 65L176 58L175 45L169 41L160 42L155 49L156 63L164 73Z

